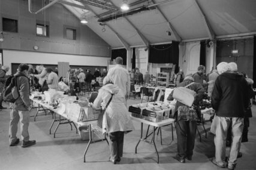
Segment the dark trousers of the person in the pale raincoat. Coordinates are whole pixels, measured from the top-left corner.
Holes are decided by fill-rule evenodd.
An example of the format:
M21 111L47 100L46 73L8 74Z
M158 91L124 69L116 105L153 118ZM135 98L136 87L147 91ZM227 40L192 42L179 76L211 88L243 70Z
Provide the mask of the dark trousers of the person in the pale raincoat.
M124 132L109 133L110 159L116 160L123 156Z

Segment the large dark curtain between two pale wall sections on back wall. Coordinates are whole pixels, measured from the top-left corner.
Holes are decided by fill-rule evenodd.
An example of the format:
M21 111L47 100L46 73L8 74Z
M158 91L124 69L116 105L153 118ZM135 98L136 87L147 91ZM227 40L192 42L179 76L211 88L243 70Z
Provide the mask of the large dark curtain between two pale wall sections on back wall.
M173 63L176 64L175 72L179 72L179 42L150 45L149 63Z

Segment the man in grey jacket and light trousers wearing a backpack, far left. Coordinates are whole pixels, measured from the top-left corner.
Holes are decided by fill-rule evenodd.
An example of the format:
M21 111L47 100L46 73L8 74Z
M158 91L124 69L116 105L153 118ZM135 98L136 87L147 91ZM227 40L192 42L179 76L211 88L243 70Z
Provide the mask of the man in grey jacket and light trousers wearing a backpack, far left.
M29 66L27 64L20 64L18 72L14 75L16 77L17 89L20 97L10 105L11 120L9 129L10 146L19 144L19 138L16 137L18 123L20 121L20 134L22 135L22 147L28 147L35 144L35 140L29 140L28 126L29 126L29 110L31 108L31 100L29 99Z

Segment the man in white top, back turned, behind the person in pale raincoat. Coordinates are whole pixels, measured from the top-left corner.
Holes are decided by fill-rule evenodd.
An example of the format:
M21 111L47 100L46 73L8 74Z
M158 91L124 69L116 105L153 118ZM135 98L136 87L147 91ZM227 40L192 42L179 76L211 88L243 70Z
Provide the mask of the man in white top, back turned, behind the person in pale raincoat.
M127 105L126 101L129 96L130 90L130 78L127 69L122 67L123 58L116 58L116 66L109 69L107 76L109 76L115 85L118 85L121 91L121 95L125 97L125 106Z

